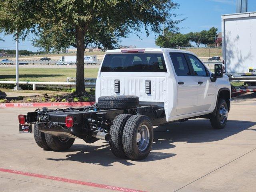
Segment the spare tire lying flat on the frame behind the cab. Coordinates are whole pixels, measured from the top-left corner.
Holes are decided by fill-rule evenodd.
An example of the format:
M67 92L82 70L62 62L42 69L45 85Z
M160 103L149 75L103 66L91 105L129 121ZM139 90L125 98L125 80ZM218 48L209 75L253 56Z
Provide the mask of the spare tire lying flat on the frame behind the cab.
M102 96L98 98L101 109L132 109L139 106L139 97L130 95Z

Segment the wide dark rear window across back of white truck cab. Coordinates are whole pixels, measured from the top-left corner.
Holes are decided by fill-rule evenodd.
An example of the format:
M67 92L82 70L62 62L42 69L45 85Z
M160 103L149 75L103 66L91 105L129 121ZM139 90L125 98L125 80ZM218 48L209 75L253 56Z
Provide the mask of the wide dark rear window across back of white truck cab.
M107 54L101 72L167 72L163 54Z

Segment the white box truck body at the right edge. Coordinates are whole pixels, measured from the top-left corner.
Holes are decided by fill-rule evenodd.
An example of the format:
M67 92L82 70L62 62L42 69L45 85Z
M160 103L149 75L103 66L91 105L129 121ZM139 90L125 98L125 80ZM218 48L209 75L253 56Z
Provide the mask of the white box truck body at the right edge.
M256 12L222 15L222 53L230 82L256 91Z

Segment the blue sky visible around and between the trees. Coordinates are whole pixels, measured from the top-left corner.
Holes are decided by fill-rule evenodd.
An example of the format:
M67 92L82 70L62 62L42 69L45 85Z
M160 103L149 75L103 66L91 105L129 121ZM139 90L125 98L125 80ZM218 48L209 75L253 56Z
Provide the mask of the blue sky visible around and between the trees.
M236 12L236 0L174 0L178 2L180 7L173 10L178 14L178 20L186 18L183 22L178 24L181 28L180 32L185 34L188 32L198 32L202 30L209 30L211 27L218 28L221 32L221 15L232 14ZM256 0L248 0L248 12L256 11ZM146 36L144 30L139 34L138 38L135 34L130 34L128 38L121 40L120 45L130 46L135 45L137 48L141 47L156 47L155 39L158 34L150 34ZM13 36L0 37L5 40L0 42L0 49L15 49L15 42ZM30 39L34 36L29 36L24 42L20 42L20 50L29 50L36 52L39 48L32 46Z

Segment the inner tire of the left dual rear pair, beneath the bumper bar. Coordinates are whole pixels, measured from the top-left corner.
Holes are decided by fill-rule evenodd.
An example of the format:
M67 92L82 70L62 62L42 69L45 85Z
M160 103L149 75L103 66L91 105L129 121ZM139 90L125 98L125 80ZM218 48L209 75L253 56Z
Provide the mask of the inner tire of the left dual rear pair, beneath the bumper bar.
M49 134L45 135L46 143L54 151L65 151L68 150L74 143L74 138L62 138L55 137Z

